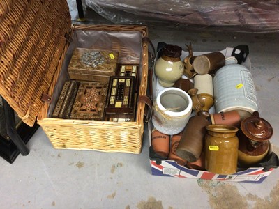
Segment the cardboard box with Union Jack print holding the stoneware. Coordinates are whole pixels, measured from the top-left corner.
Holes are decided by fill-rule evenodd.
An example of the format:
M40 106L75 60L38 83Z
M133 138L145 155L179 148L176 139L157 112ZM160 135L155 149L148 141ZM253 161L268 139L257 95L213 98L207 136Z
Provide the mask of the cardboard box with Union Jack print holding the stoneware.
M231 56L233 48L226 48L220 52L222 52L226 57ZM205 54L208 52L194 52L195 56L200 54ZM158 55L157 55L158 56ZM188 52L182 52L181 60L183 60L186 56L188 56ZM158 59L158 57L156 57ZM247 57L246 61L242 63L246 68L251 70L251 62L249 57ZM152 88L153 88L153 100L156 99L156 95L160 91L164 89L164 87L160 86L158 83L158 79L156 75L153 75L152 78ZM209 109L210 113L214 113L214 107ZM195 113L192 113L193 115ZM149 123L149 142L151 145L151 130L153 128L152 122ZM272 152L271 144L270 144L269 153ZM227 180L234 182L244 182L244 183L262 183L267 176L273 171L273 168L264 168L264 167L250 167L246 170L238 171L237 173L233 173L230 175L220 175L216 173L211 173L209 171L199 171L195 169L188 169L185 166L181 166L177 164L173 160L163 160L158 158L158 156L154 157L153 149L150 147L150 165L151 165L151 173L154 176L172 176L179 178L195 178L195 179L207 179L207 180ZM277 157L277 156L276 156ZM240 169L239 169L240 170Z

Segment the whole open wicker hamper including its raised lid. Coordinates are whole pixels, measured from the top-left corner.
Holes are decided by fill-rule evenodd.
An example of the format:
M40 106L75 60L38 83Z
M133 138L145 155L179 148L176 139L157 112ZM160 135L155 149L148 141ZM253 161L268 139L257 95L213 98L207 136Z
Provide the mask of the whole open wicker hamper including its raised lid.
M61 91L57 84L66 80L62 71L75 31L140 33L139 96L146 95L148 45L142 41L147 36L146 27L72 26L66 0L0 1L0 94L24 123L32 126L38 120L54 148L140 153L144 102L138 102L134 122L50 118L50 108Z

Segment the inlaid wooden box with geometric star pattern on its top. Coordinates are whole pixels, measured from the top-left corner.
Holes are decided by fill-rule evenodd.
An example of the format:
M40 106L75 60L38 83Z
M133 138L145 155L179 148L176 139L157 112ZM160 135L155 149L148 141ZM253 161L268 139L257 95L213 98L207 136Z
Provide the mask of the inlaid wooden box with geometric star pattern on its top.
M106 82L80 82L70 118L103 121Z

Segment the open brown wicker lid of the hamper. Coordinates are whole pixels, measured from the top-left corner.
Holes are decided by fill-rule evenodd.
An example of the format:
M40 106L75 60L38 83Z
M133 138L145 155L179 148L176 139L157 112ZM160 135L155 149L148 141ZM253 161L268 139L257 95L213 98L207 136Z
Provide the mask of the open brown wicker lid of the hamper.
M70 31L66 0L0 1L0 94L33 126Z

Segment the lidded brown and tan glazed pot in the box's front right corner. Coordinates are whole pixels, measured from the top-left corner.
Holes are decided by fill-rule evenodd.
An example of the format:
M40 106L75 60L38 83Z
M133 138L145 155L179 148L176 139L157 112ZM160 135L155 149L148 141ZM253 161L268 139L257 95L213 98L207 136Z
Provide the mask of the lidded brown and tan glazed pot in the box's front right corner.
M271 124L256 111L241 121L239 137L239 163L249 167L261 162L269 152L269 139L273 135Z

